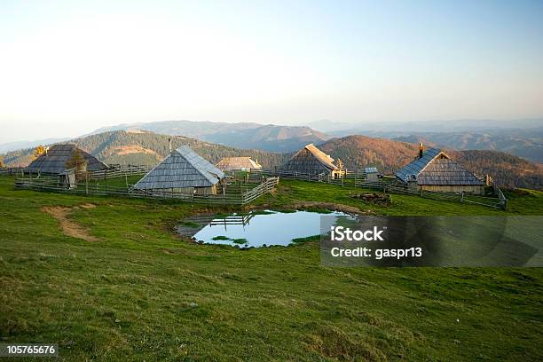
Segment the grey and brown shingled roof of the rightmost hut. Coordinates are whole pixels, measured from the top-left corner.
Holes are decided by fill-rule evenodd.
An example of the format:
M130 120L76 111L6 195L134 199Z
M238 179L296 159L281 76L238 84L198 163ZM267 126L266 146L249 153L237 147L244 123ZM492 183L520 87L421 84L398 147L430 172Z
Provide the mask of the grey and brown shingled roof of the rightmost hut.
M413 176L417 185L484 185L472 172L437 148L429 148L422 157L396 173L396 177L405 183Z

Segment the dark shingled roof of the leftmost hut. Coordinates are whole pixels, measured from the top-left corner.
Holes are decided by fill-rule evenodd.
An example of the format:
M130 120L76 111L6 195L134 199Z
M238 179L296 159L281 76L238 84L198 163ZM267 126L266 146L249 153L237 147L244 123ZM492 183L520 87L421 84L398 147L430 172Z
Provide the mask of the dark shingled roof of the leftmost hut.
M108 168L106 163L99 161L91 153L84 152L74 144L60 144L49 147L46 153L39 155L34 161L30 162L27 169L31 172L59 174L66 170L66 163L72 158L75 149L81 152L83 159L87 162L88 171Z

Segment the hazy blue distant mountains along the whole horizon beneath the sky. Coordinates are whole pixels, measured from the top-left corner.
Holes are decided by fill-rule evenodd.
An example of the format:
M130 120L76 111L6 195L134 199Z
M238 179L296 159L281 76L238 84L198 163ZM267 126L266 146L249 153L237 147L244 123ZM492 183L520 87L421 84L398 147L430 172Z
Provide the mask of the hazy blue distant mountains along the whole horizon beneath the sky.
M319 145L334 137L362 135L408 143L422 142L453 150L501 151L526 160L543 162L543 119L512 122L490 120L381 122L358 126L329 120L311 122L305 126L264 125L255 122L164 121L119 124L95 130L91 134L113 130L149 130L158 134L201 139L218 145L279 153L293 152L309 143ZM12 142L0 145L0 153L61 140L67 138Z

